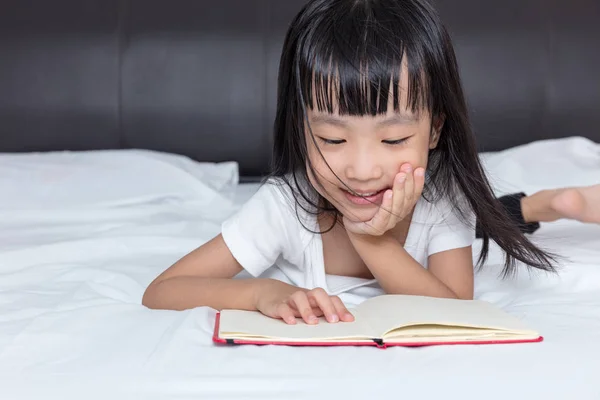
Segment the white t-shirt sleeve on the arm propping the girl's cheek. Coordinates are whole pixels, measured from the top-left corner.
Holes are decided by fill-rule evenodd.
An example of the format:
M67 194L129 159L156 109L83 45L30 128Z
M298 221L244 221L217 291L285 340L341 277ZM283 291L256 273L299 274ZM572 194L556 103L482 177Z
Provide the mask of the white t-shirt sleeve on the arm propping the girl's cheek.
M434 205L433 212L435 215L429 232L428 256L473 245L475 241L475 214L468 206L465 206L463 210L464 217L453 209L452 204L444 199Z

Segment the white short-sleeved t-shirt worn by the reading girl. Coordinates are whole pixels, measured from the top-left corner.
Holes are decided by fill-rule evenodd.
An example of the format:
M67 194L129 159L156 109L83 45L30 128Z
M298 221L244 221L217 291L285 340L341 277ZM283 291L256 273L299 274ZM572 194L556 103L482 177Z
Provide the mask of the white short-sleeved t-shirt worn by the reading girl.
M464 224L450 204L420 198L404 248L424 268L434 253L467 247L475 240L474 220ZM297 207L292 190L271 180L263 184L221 227L235 259L254 277L279 279L298 287L323 288L349 306L383 294L376 280L327 275L316 215Z

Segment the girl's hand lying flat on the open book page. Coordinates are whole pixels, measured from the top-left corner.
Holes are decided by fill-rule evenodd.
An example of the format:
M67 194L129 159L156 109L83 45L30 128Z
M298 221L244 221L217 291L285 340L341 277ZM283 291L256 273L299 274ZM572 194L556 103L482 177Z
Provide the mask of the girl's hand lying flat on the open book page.
M317 324L318 317L325 316L328 322L352 322L354 316L338 296L330 296L322 288L312 290L298 288L273 280L269 287L259 293L256 308L262 314L295 324L302 318L307 324Z

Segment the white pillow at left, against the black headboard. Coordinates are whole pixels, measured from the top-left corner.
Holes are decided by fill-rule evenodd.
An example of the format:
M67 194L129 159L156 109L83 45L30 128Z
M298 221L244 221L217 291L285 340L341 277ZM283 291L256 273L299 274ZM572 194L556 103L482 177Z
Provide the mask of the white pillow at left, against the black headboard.
M235 162L148 150L0 154L0 209L207 201L239 181Z

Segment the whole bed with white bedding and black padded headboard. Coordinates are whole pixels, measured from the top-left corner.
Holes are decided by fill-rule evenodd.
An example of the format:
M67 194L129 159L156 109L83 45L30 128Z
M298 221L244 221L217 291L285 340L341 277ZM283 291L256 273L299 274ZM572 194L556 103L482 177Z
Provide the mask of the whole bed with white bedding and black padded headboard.
M600 398L600 226L532 236L564 257L557 275L502 280L495 247L477 273L476 297L541 343L227 347L211 340L212 309L140 304L260 185L278 46L301 3L4 3L0 398ZM598 3L438 4L496 193L600 183Z

